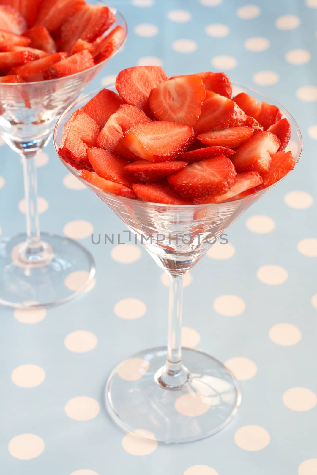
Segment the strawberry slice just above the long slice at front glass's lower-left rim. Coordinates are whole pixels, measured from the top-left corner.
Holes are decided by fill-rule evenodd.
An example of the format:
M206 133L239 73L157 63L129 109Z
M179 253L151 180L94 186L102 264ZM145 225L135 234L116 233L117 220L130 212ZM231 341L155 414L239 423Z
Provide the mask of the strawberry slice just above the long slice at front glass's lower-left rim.
M96 174L101 178L115 181L115 183L131 188L134 180L125 171L125 166L129 163L127 160L96 147L87 149L87 157Z

